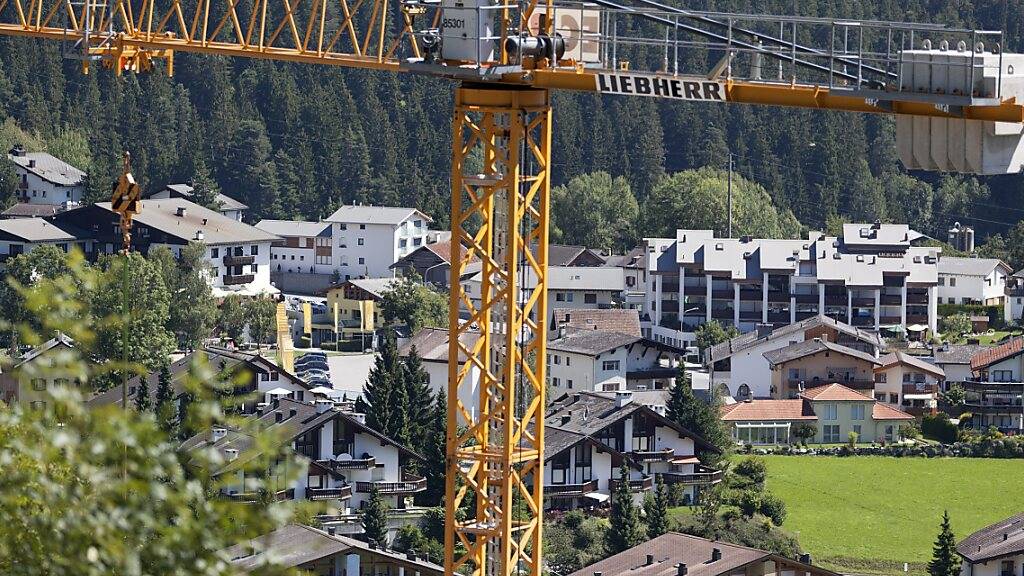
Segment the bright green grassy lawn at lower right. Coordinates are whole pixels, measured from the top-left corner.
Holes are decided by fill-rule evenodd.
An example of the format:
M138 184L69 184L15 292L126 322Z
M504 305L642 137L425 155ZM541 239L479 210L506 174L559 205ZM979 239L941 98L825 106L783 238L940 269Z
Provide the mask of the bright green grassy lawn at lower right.
M1020 512L1024 463L981 458L766 456L783 528L841 572L924 574L948 509L957 540Z

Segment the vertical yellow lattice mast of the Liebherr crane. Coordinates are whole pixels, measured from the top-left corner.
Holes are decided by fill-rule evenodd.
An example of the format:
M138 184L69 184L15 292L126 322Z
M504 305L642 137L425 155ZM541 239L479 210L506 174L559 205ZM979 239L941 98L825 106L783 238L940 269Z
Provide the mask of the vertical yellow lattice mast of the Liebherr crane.
M459 88L453 128L449 358L455 360L449 363L445 573L538 575L550 93ZM460 281L474 260L481 275L475 304ZM473 322L459 320L465 302ZM480 336L470 347L462 339L474 330ZM471 373L459 358L477 368L474 398L465 394ZM458 520L457 510L470 501L475 510Z

